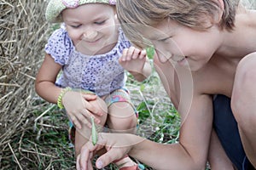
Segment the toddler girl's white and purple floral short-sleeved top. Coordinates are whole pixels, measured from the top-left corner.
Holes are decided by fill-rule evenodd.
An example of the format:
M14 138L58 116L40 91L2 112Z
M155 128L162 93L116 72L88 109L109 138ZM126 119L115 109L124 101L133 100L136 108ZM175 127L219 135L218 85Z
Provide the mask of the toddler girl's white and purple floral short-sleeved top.
M119 29L118 42L106 54L84 55L76 51L65 28L53 32L45 45L45 51L62 65L61 76L55 84L62 88L81 88L99 96L110 94L125 86L125 70L119 65L119 57L131 43Z

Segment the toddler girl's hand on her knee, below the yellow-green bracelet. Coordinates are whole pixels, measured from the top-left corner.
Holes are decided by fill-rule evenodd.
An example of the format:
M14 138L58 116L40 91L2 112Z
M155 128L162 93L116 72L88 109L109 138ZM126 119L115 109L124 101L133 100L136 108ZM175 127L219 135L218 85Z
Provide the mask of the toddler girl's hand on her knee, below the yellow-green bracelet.
M100 120L96 116L102 116L107 113L104 108L102 111L101 105L92 105L92 102L96 102L95 94L84 94L78 91L68 91L62 98L62 103L67 111L67 116L71 119L74 126L81 128L81 122L86 126L91 127L90 117L93 116L96 123L100 123ZM100 102L99 102L100 103Z

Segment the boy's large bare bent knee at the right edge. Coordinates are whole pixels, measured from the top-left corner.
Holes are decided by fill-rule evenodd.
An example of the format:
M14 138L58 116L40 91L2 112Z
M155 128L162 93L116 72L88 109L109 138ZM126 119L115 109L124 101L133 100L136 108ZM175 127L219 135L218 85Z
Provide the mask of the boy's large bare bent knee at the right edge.
M236 69L232 111L248 159L256 168L256 52L241 59Z

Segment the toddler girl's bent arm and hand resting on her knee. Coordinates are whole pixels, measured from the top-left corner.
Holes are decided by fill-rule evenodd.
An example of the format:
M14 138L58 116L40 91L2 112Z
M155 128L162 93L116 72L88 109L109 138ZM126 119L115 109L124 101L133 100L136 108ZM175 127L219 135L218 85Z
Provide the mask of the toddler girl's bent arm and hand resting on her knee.
M49 54L45 54L44 62L38 71L35 82L38 95L54 104L57 103L58 97L63 90L63 88L55 86L55 80L61 71L61 67L61 65L55 63L55 60ZM67 115L76 127L81 128L81 122L84 122L84 124L90 127L90 118L87 120L86 117L94 116L94 114L97 116L103 115L97 108L90 105L89 101L95 99L96 95L81 95L79 92L68 91L63 94L61 104L64 105ZM100 123L100 119L98 118L95 121Z

